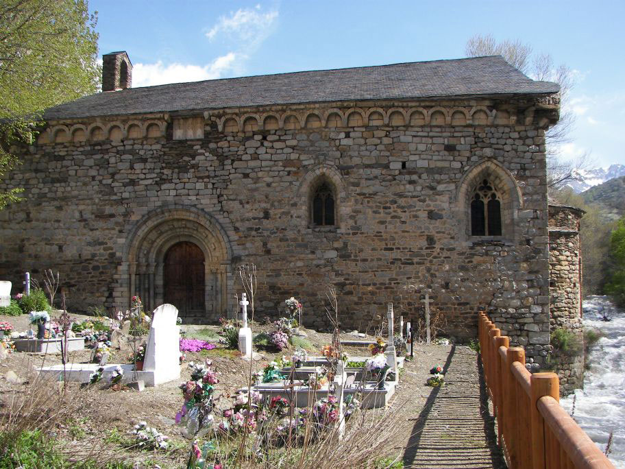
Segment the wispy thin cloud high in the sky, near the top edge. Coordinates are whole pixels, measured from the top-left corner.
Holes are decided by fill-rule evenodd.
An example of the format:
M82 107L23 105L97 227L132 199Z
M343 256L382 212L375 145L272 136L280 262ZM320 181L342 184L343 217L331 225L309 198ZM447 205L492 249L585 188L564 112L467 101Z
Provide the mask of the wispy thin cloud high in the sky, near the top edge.
M239 8L228 16L220 16L206 37L215 40L224 34L229 40L238 40L247 47L258 47L273 32L278 22L278 10L266 13L260 10L260 5L256 5L256 8Z

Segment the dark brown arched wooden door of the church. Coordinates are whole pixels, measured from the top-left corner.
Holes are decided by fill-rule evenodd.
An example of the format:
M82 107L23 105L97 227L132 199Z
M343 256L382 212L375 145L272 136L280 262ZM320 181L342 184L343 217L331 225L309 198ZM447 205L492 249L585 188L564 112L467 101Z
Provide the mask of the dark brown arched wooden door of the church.
M175 243L165 254L164 300L178 309L181 317L206 315L204 252L193 243Z

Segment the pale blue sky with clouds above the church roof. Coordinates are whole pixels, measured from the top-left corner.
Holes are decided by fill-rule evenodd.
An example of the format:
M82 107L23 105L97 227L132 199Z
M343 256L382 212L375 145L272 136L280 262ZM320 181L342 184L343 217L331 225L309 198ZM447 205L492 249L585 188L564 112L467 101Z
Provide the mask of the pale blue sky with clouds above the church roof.
M625 164L625 2L90 0L100 54L133 86L461 58L474 34L519 39L574 71L572 158Z

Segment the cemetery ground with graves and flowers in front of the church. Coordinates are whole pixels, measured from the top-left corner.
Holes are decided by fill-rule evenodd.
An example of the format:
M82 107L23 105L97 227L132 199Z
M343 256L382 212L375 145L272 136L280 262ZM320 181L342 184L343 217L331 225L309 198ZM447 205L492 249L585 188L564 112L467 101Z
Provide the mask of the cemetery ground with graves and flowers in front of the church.
M406 348L410 324L404 323L403 318L396 315L390 302L387 304L387 311L380 311L383 320L380 335L377 336L357 331L341 331L336 335L308 329L302 326L302 321L306 324L306 317L305 314L302 317L302 306L299 303L299 309L295 311L286 307L282 311L281 320L259 324L249 319L250 302L245 293L241 295L239 303L236 317L224 320L219 327L206 326L206 330L214 331L213 337L206 337L205 329L198 333L197 326L180 325L177 321L177 309L173 305L164 304L152 312L143 311L140 298L134 303L135 310L117 315L121 319L73 313L63 319L64 311L53 311L45 322L45 335L55 335L51 339L18 338L29 335L27 331L20 330L30 320L29 315L0 317L1 320L6 318L15 325L12 332L3 339L2 350L5 352L0 361L0 394L24 389L30 385L29 380L34 380L48 390L66 387L66 392L75 400L73 419L79 418L88 422L84 424L89 429L86 430L87 433L93 432L101 440L106 440L110 435L117 435L119 432L127 433L132 430L132 435L141 432L143 435L147 431L154 440L149 447L158 447L163 453L169 451L168 455L163 455L161 463L178 467L174 461L176 458L184 459L188 456L188 445L198 441L197 435L206 438L199 442L210 441L210 436L206 436L206 431L203 433L201 429L202 419L199 418L198 421L197 416L195 420L188 417L194 408L188 406L188 402L193 402L195 406L199 405L200 400L188 399L190 395L185 390L185 383L195 382L193 380L197 380L200 375L199 382L211 383L211 396L221 396L219 400L216 399L219 404L210 405L213 406L211 414L214 416L211 418L211 422L214 418L214 425L210 428L211 431L217 431L217 435L228 435L230 439L238 435L234 429L240 427L241 416L245 414L245 396L253 396L258 398L258 403L254 406L258 405L258 409L264 409L263 412L268 415L280 415L280 420L289 418L285 412L291 407L297 409L297 412L300 409L304 413L310 412L311 418L317 422L315 437L311 442L325 441L326 437L332 437L334 428L341 435L352 434L356 425L350 426L350 421L365 419L369 412L374 413L366 417L367 428L373 428L376 422L386 422L388 416L384 416L388 410L385 409L400 405L400 400L405 402L406 394L413 394L415 387L423 389L425 404L428 394L434 389L426 383L428 376L431 376L428 370L434 362L444 363L450 352L450 346L433 343L413 344L412 350L409 345ZM295 324L295 318L298 325L296 328L291 327ZM66 326L68 335L71 336L66 341L62 340L64 320L68 321ZM106 330L101 325L105 323L110 324L112 330ZM147 326L143 328L140 337L131 333L138 324ZM29 324L29 327L34 328L37 325ZM55 328L58 328L58 333L54 331ZM286 348L278 350L271 346L257 345L257 336L265 334L272 337L280 328L290 336ZM194 339L194 334L209 339L209 345L198 351L183 351L180 344L206 342ZM234 348L227 348L228 334L236 339L230 341ZM36 335L36 332L32 331L32 335ZM184 339L181 340L182 337ZM291 339L293 344L299 345L293 346ZM16 346L20 341L51 340L58 340L64 345L58 349L48 347L41 351ZM83 346L67 346L71 341L79 341ZM141 366L132 363L127 354L134 343L145 346ZM402 346L396 347L395 344ZM410 351L414 357L410 357ZM417 365L417 357L427 357L427 362L422 359L422 363ZM418 366L420 374L415 372L413 365ZM248 369L254 372L252 381L248 379ZM406 370L410 370L410 374L406 375ZM406 385L404 379L407 379ZM136 385L138 382L141 385ZM53 386L54 383L58 383L58 386ZM404 386L410 386L410 389ZM175 416L182 403L178 397L180 389L186 404L182 415L178 411L179 415ZM230 410L223 409L228 395L233 396L235 401ZM206 410L206 392L201 396L204 404L200 407ZM79 402L93 402L94 399L99 402L96 406L99 411L93 406L80 408L78 405ZM286 410L277 411L276 406L283 406ZM112 412L112 409L116 411ZM415 411L418 409L418 406L415 407ZM121 415L121 418L110 420L112 415L104 416L111 413ZM252 419L252 414L245 415ZM226 417L220 420L219 416ZM302 422L305 420L306 418L302 419ZM101 422L98 424L101 428L97 430L93 427L96 421ZM261 425L260 420L254 419L248 423L252 426ZM300 429L300 426L305 428L302 423L291 424L293 429ZM410 423L409 426L411 428L413 424ZM257 432L254 433L251 428L249 430L250 435L256 435ZM404 431L408 437L411 430ZM284 447L288 438L276 429L272 432L271 444ZM337 433L337 438L338 435ZM294 437L287 446L301 446L303 438L302 435ZM145 444L142 448L144 446ZM202 451L201 444L199 451ZM125 450L124 454L136 460L143 457L138 449Z

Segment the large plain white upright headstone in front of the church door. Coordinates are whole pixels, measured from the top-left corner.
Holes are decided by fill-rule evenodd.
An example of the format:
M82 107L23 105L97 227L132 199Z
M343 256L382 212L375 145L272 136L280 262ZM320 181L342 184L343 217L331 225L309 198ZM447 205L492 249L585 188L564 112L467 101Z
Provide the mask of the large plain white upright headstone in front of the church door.
M180 378L180 326L178 310L162 304L154 310L145 347L143 370L154 372L154 385Z

